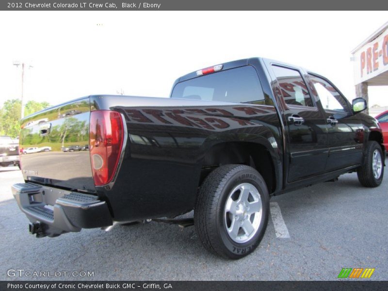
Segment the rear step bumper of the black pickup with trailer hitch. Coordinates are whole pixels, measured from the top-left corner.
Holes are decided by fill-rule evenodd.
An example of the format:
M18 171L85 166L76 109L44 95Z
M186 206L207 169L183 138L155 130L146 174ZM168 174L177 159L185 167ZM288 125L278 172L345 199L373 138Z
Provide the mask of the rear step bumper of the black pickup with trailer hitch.
M37 237L55 237L81 228L113 224L108 205L94 195L33 183L14 184L12 193L31 222L30 232Z

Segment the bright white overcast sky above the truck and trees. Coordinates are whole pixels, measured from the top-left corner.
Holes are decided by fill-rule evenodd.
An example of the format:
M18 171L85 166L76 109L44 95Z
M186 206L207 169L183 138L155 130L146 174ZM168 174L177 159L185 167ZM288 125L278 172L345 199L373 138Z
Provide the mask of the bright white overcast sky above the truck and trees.
M351 50L387 12L0 12L0 105L91 94L168 97L181 75L247 57L301 65L355 97ZM99 24L99 25L97 25ZM369 87L388 106L388 87Z

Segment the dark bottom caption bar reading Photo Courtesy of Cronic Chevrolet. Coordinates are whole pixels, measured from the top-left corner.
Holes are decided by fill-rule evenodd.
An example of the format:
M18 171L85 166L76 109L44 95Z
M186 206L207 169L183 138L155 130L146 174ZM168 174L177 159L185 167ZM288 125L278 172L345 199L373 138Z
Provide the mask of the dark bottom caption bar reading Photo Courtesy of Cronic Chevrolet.
M388 281L0 281L1 291L388 290Z

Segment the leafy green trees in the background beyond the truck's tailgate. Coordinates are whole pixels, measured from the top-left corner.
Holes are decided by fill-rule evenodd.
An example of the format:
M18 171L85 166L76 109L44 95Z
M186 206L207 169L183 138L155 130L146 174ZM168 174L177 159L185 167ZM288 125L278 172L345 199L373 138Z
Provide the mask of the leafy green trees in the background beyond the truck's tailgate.
M49 107L48 102L28 101L24 105L25 115L30 115ZM0 109L0 135L11 137L19 136L20 132L21 101L19 99L7 100Z

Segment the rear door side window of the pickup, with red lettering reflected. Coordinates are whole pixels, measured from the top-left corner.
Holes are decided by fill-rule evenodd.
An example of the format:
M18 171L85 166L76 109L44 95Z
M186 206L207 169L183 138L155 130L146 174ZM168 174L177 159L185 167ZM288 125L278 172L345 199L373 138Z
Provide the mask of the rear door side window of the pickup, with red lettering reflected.
M272 65L280 91L286 104L313 107L307 86L297 70Z

